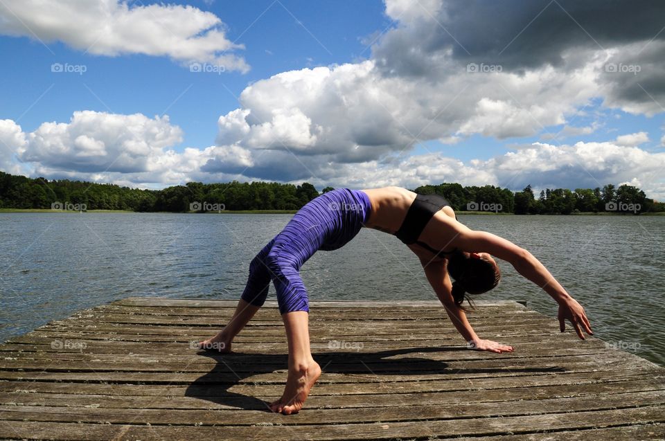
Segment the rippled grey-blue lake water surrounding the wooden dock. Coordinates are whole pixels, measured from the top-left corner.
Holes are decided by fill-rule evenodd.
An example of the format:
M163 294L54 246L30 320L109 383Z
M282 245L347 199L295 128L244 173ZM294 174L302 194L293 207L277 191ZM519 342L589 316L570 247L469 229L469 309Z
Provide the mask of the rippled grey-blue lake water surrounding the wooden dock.
M249 261L290 218L0 213L0 341L127 296L236 299ZM531 251L585 307L596 336L665 366L665 217L459 220ZM544 291L499 265L502 282L477 299L528 300L556 316ZM342 249L314 254L301 274L315 300L436 299L416 255L366 228Z

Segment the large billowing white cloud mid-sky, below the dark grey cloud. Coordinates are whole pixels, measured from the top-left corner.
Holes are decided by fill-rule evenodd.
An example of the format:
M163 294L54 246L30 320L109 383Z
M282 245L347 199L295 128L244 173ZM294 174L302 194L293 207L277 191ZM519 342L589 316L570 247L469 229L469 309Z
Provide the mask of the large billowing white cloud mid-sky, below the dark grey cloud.
M600 62L566 75L551 66L470 74L447 63L431 82L386 77L373 60L274 75L247 87L242 107L220 116L217 142L357 163L431 139L529 136L564 123L593 96Z

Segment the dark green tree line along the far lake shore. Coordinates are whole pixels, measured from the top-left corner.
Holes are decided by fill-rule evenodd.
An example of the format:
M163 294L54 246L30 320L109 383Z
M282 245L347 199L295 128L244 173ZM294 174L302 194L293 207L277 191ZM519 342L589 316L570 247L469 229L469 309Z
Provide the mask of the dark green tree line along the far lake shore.
M326 187L322 193L333 190ZM515 214L570 214L578 212L665 211L665 204L648 199L634 186L612 184L603 188L542 190L535 197L531 186L521 192L495 186L461 186L441 183L420 186L418 193L442 195L454 210L484 210ZM298 210L319 196L312 184L232 181L227 183L188 182L162 190L143 190L109 183L28 178L0 172L0 208L85 207L87 210L130 210L183 213L214 206L215 210ZM635 208L639 208L635 210Z

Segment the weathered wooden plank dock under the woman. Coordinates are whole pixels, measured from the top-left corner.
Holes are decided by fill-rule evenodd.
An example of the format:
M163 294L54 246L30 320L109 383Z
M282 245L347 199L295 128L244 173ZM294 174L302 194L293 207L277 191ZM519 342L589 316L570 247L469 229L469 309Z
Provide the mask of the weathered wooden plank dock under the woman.
M234 354L197 350L235 301L126 298L0 345L0 438L55 440L659 440L665 368L515 302L478 303L466 348L434 302L312 301L323 375L297 415L267 302Z

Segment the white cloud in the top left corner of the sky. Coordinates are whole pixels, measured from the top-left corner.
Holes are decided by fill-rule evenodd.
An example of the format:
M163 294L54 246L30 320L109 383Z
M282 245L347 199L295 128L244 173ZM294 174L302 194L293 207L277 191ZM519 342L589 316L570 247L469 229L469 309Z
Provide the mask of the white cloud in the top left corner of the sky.
M249 70L242 57L230 53L244 46L227 39L224 24L212 12L193 6L130 3L3 0L0 33L60 41L96 55L138 53L183 64L209 62L229 71Z

